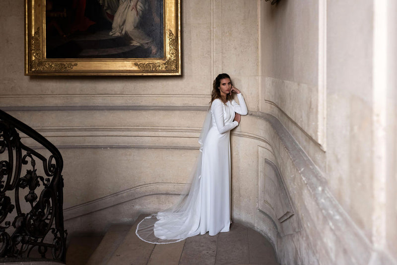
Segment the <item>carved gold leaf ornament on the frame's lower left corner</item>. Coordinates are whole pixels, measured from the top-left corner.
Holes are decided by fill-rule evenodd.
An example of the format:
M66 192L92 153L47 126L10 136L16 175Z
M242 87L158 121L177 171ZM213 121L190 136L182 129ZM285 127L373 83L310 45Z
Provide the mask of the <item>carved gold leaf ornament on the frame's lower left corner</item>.
M43 71L53 71L53 72L66 72L77 66L77 63L52 63L41 60L42 54L40 49L40 28L34 32L31 41L31 51L33 60L30 62L30 70L32 72L43 72Z

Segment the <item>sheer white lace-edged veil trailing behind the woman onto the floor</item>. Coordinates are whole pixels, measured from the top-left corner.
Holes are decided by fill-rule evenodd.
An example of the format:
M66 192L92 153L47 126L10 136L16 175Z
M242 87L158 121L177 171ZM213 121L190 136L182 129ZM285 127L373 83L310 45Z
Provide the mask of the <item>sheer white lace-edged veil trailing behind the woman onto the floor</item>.
M199 136L200 152L190 177L191 185L182 192L174 206L140 221L135 234L141 240L152 244L169 244L200 233L202 146L211 127L211 119L211 112L208 111Z

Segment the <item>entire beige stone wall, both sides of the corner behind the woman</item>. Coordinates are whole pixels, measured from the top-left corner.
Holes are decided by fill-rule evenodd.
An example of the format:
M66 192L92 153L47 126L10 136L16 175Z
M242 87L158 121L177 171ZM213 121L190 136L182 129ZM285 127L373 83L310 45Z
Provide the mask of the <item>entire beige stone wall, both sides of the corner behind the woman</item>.
M6 0L0 107L63 154L69 234L103 232L172 205L212 80L229 73L250 110L231 136L233 221L269 238L281 264L396 264L396 60L375 71L378 7L186 0L182 77L25 77L23 3Z

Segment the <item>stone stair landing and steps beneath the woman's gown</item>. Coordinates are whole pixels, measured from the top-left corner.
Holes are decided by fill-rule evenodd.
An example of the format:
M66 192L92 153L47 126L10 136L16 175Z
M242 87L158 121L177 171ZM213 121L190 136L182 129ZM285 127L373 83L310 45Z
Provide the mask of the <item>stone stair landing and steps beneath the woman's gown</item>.
M155 245L135 235L136 225L113 225L105 236L71 239L67 265L278 265L273 247L260 233L233 223L230 232L199 235L184 241Z

